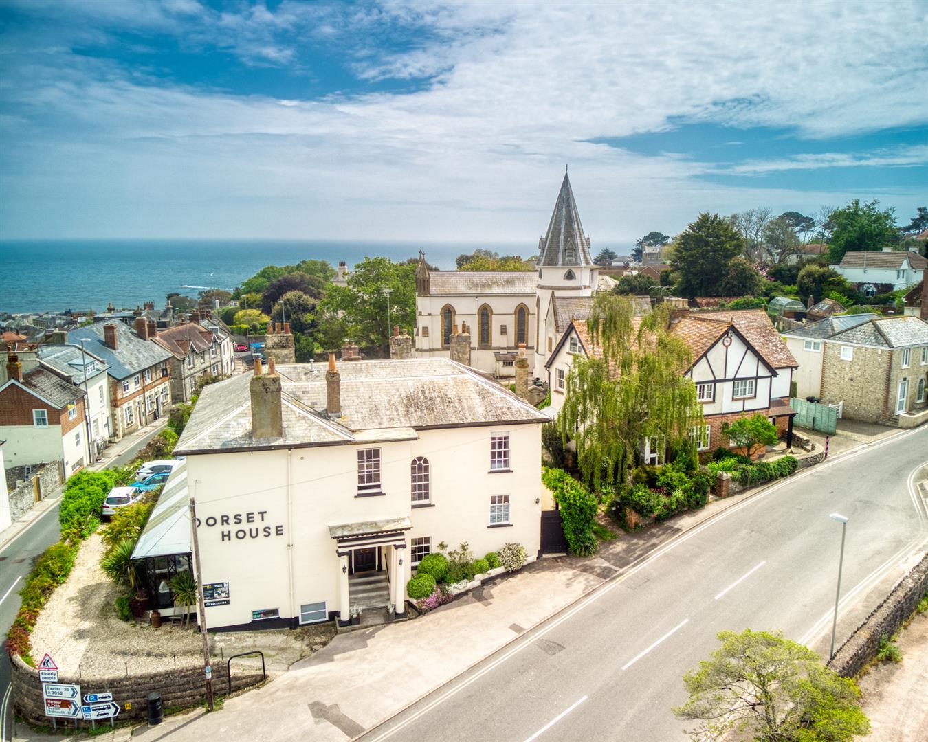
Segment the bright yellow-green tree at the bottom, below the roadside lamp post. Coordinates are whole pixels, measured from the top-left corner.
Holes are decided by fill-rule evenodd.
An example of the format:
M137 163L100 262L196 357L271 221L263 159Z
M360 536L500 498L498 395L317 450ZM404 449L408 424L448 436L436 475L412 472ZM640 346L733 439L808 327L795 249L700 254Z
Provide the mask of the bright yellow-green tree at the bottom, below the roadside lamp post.
M674 713L698 740L850 742L870 733L857 684L782 634L720 632L722 646L683 676L689 700ZM730 737L734 735L734 737Z

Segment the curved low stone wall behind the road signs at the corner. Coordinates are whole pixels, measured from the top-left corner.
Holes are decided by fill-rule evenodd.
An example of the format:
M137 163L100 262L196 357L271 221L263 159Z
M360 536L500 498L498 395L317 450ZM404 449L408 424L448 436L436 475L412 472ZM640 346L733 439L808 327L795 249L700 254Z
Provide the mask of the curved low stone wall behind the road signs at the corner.
M237 691L262 682L260 672L236 672L232 668L232 690ZM206 699L202 668L186 668L148 674L116 676L110 678L78 678L59 674L59 683L76 683L81 686L81 693L110 692L113 700L122 706L119 719L146 719L148 703L146 697L152 691L161 693L161 702L165 709L171 707L195 706ZM25 721L48 724L42 699L42 684L37 670L29 667L19 655L12 657L13 706ZM228 693L228 675L226 663L213 665L213 694L217 697ZM132 708L127 709L126 703ZM68 719L58 719L59 723L71 723ZM90 722L81 722L84 725Z

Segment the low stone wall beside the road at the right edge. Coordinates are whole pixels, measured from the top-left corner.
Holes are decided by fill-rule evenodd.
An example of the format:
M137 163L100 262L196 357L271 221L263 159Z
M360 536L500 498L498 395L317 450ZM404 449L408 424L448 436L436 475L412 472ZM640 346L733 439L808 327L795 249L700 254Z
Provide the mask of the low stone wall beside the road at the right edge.
M828 663L831 670L844 677L854 677L876 657L883 634L892 636L912 615L912 611L928 591L928 554L905 579L893 588L883 602L873 609L857 630L850 635Z

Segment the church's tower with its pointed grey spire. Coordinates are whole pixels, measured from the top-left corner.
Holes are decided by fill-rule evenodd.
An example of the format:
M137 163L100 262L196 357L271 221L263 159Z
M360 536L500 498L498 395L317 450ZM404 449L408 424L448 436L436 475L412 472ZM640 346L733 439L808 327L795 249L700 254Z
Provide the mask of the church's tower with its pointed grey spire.
M571 179L564 173L561 192L548 223L548 234L538 243L537 335L535 376L543 377L551 349L545 326L554 297L592 297L599 280L599 266L590 255L589 237L580 224ZM557 342L557 339L554 339Z

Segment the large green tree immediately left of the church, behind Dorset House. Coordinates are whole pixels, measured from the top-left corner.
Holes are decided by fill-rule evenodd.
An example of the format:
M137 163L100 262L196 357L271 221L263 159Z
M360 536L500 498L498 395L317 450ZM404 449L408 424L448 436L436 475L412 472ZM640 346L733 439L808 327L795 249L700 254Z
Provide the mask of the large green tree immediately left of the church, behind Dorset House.
M389 300L386 289L390 289ZM390 318L387 318L387 302ZM389 325L410 328L416 321L416 266L392 262L389 258L365 258L354 266L348 286L332 286L319 302L324 316L339 316L347 335L330 347L338 347L345 338L362 347L385 349L389 343ZM327 329L333 325L328 324Z

